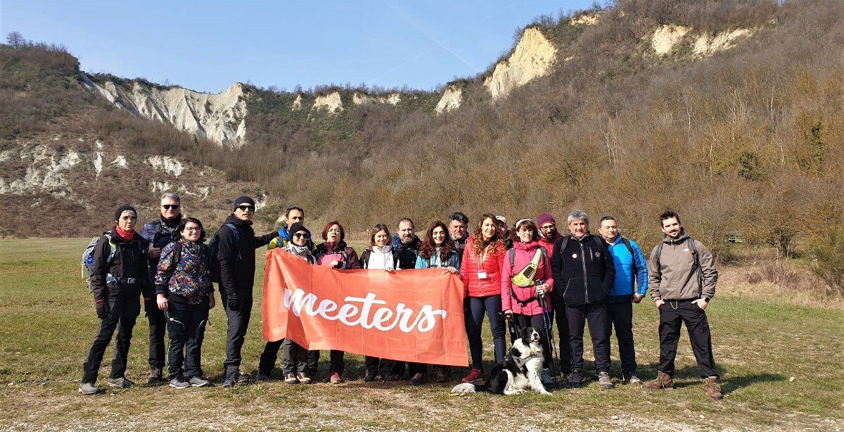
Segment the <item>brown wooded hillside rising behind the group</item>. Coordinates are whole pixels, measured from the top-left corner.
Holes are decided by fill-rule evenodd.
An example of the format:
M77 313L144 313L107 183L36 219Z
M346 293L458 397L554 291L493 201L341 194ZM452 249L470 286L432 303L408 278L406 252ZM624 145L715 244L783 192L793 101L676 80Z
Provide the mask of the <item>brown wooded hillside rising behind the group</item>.
M245 139L230 146L110 107L82 89L64 52L3 46L2 145L60 129L189 159L267 192L268 222L290 203L354 233L455 210L562 220L582 208L616 215L650 246L657 213L671 207L722 258L723 236L738 233L824 262L844 247L841 9L836 0L621 0L542 17L526 28L553 45L552 66L506 94L489 83L517 46L435 93L246 86ZM24 63L29 75L15 66ZM457 90L459 107L441 109L442 94ZM0 192L7 207L30 205ZM202 205L225 208L222 199ZM830 266L841 278L841 265Z

